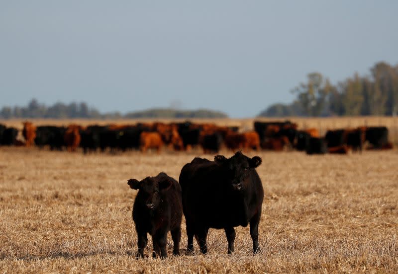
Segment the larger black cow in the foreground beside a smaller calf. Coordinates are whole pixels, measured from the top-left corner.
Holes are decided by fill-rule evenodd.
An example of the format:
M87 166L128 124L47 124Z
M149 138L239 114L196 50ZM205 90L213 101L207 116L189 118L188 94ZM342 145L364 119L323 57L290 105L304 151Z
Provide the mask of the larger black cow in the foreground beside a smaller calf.
M228 254L231 254L234 251L234 227L248 223L253 252L260 251L258 225L264 190L255 168L261 162L260 157L249 158L239 151L229 159L217 155L214 162L195 158L183 167L180 184L189 252L194 250L194 236L200 252L207 252L206 236L212 227L225 230Z

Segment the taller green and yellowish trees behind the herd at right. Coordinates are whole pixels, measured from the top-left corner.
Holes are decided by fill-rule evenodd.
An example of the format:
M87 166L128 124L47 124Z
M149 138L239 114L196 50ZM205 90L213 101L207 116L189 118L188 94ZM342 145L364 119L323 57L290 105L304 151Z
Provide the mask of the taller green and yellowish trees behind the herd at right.
M291 104L273 104L261 112L262 117L286 116L395 116L398 113L398 65L380 62L370 75L352 77L333 85L319 72L292 90Z

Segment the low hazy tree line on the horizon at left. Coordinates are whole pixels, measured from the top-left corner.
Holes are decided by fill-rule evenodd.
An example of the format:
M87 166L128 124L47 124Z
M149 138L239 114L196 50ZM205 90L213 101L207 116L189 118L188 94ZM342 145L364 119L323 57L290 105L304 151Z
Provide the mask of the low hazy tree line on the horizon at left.
M149 109L146 111L100 113L95 108L90 108L84 102L81 103L55 103L47 107L32 99L26 107L3 107L0 110L0 118L49 118L49 119L134 119L134 118L227 118L227 115L212 110L177 110L172 108Z

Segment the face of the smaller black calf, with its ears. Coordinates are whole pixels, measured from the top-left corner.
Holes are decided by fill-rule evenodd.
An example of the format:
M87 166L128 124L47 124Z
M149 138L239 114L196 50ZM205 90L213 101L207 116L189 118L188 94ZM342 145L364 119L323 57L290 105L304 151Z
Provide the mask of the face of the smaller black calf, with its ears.
M154 210L159 206L162 192L168 190L173 182L168 179L159 180L155 177L146 177L142 181L130 179L127 184L130 188L139 190L136 199L142 203L142 206Z

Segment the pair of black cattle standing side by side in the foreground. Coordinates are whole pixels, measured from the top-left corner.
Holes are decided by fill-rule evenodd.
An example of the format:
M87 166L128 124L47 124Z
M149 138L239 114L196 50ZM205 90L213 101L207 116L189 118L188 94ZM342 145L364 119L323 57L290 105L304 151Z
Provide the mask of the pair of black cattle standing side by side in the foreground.
M181 220L187 224L187 251L194 251L194 237L200 252L207 252L209 228L224 229L228 254L234 251L236 226L250 224L253 252L260 251L258 227L261 219L264 189L255 170L259 156L247 157L236 152L227 159L222 155L214 161L194 158L181 170L178 183L161 172L156 177L138 181L129 179L131 189L138 190L133 205L133 220L138 238L137 258L144 257L147 234L152 236L153 257L167 257L167 234L174 243L173 254L179 254Z

